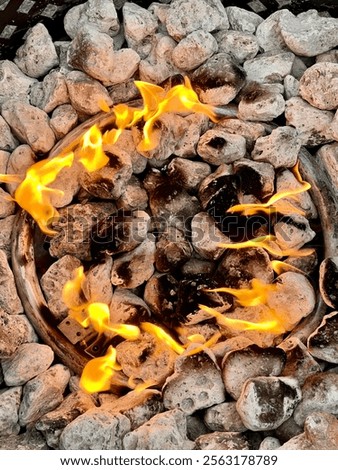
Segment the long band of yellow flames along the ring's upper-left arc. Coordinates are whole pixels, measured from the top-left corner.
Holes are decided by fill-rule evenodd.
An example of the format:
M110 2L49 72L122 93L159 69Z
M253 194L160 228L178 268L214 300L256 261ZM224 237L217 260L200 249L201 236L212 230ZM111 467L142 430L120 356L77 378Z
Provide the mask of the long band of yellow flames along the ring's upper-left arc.
M204 113L210 119L216 120L212 106L199 101L187 77L184 84L176 85L166 91L164 88L151 83L136 81L143 98L143 108L132 108L119 104L114 108L115 129L106 131L103 135L97 125L93 125L80 139L80 144L74 142L74 148L66 155L56 156L35 163L27 170L24 178L19 175L2 175L0 182L20 183L14 194L14 200L26 210L36 221L42 232L53 236L54 230L49 228L50 222L58 217L58 212L51 204L51 196L63 195L61 190L49 187L55 181L63 168L70 167L74 161L79 161L89 172L104 167L109 158L105 154L104 145L117 141L124 129L134 126L144 120L143 139L140 148L151 150L156 146L154 124L164 113ZM100 102L100 107L108 112L106 103ZM71 146L72 147L72 146Z

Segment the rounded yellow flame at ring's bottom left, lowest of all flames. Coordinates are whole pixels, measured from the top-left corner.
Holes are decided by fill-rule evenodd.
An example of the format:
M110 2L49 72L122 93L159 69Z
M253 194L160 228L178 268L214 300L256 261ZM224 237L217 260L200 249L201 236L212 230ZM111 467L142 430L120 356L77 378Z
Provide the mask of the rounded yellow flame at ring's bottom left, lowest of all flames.
M104 356L87 362L82 371L80 387L87 393L109 390L116 370L120 370L116 362L116 349L109 346Z

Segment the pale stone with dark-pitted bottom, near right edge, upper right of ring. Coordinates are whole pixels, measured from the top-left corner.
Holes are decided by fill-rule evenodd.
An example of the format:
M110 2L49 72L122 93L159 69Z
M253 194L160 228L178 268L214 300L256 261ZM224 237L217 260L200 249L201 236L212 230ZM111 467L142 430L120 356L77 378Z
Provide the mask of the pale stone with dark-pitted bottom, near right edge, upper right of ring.
M330 124L333 113L331 111L314 108L302 98L295 97L286 102L285 118L287 125L296 128L303 145L313 147L332 140Z

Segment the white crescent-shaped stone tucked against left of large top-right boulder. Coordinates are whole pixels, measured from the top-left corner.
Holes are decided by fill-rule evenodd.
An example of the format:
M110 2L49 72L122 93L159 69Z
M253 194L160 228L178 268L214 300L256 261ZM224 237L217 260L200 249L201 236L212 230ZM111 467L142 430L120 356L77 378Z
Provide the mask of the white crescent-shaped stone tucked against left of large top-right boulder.
M259 46L265 52L287 49L279 25L280 19L283 17L289 18L288 10L275 11L257 26L256 38Z

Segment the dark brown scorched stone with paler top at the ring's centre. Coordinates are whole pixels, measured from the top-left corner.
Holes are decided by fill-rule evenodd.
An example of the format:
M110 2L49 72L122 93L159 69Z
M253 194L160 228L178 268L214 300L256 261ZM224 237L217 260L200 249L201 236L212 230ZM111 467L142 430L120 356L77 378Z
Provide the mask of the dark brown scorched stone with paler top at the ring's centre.
M189 260L192 254L190 243L181 230L168 227L156 243L155 266L161 272L172 272Z

